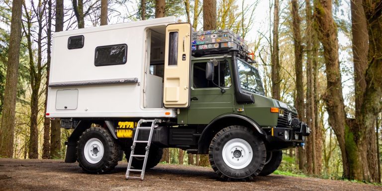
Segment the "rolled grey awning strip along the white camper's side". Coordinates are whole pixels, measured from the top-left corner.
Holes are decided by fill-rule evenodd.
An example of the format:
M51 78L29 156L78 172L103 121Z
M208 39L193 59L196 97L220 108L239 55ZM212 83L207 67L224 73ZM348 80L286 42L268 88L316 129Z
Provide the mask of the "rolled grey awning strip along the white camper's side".
M138 78L119 78L119 79L97 79L86 81L67 81L49 83L49 87L66 87L66 86L84 86L84 85L104 85L104 84L128 84L137 83Z

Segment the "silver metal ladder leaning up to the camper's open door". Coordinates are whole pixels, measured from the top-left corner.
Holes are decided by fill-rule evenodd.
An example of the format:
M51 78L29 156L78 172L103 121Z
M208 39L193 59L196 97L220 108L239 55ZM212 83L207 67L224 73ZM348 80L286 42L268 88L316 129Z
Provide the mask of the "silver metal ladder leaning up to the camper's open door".
M150 123L151 123L151 127L141 127L142 124L150 124ZM143 177L145 176L147 158L149 156L151 139L153 137L154 128L156 126L158 126L158 125L156 125L157 123L160 123L160 120L157 120L157 119L155 119L155 120L144 120L144 119L139 120L137 128L135 130L135 134L134 134L133 145L131 146L129 164L127 165L127 170L126 170L126 179L133 178L133 179L141 179L143 181ZM138 139L138 132L141 129L150 129L149 137L147 140L137 140ZM146 143L147 144L147 146L145 147L146 152L144 155L134 154L136 143ZM131 163L132 163L134 158L144 158L142 169L131 169ZM130 172L141 172L141 175L139 177L130 176Z

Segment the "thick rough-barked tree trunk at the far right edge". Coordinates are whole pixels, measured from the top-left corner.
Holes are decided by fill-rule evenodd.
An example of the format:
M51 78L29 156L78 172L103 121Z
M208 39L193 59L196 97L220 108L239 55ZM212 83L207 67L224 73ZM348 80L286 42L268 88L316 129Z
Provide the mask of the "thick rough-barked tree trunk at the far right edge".
M365 73L366 89L364 91L360 116L356 117L358 124L362 126L360 130L359 150L362 152L362 161L367 161L364 165L364 177L362 180L371 182L381 182L376 168L377 162L377 141L375 136L374 122L380 113L382 97L382 3L380 0L364 0L362 2L366 15L367 28L369 34L368 66ZM363 147L367 145L367 152ZM364 163L363 163L364 164ZM368 169L368 171L366 171Z

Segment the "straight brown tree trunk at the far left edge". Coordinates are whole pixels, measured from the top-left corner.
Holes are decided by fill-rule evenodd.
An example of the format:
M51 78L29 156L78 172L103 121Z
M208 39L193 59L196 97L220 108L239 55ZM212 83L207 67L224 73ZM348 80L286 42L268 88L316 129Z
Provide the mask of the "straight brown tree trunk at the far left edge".
M12 1L12 16L9 36L8 63L4 88L0 126L0 156L13 157L13 131L17 96L17 77L21 41L22 0Z

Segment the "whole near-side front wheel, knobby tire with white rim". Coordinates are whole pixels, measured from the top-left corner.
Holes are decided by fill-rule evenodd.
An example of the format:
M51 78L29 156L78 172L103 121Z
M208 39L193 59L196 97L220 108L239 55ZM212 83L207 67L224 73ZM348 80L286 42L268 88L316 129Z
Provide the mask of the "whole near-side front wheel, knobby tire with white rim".
M208 156L213 170L221 179L246 181L262 171L266 148L252 129L229 126L213 137Z

